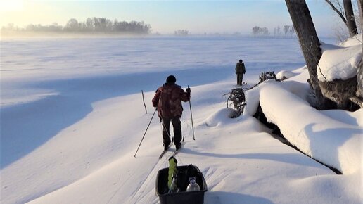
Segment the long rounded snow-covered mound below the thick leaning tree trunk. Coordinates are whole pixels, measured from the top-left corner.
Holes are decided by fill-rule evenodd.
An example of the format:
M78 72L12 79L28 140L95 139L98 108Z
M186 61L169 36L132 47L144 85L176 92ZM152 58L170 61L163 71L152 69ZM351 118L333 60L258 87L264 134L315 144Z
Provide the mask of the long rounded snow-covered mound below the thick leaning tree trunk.
M268 82L260 89L261 108L267 120L278 125L286 139L310 157L343 174L361 170L362 127L340 122L310 107L294 94L296 85Z

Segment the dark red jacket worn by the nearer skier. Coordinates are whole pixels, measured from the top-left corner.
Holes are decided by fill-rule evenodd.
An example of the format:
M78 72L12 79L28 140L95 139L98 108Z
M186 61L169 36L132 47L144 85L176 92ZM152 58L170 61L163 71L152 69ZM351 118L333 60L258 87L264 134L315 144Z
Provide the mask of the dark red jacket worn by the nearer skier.
M181 87L174 83L165 83L156 90L153 98L153 106L158 108L160 117L181 116L183 106L181 101L189 101L191 94L185 92Z

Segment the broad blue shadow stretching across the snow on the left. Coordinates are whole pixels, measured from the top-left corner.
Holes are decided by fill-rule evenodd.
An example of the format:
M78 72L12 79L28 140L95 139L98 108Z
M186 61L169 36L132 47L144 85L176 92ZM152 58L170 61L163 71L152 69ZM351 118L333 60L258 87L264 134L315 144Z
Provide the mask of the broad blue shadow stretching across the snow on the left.
M91 113L91 104L106 98L154 91L168 75L177 77L181 87L196 86L227 78L226 68L173 70L81 79L62 79L30 84L27 87L52 89L59 93L39 101L1 109L0 167L23 158L46 141ZM189 83L189 84L188 84ZM150 100L149 100L150 99ZM151 98L146 98L146 103Z

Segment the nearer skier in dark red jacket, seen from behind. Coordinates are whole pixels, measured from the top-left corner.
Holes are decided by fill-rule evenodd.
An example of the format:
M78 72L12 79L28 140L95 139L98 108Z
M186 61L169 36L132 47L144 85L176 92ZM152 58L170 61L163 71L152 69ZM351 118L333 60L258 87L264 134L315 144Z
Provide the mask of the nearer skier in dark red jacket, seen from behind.
M183 106L181 101L187 102L191 98L191 89L184 91L177 84L177 79L170 75L167 77L166 83L156 90L153 98L153 106L158 108L158 115L163 125L163 146L169 148L170 141L170 122L174 128L174 145L177 149L181 146L181 113Z

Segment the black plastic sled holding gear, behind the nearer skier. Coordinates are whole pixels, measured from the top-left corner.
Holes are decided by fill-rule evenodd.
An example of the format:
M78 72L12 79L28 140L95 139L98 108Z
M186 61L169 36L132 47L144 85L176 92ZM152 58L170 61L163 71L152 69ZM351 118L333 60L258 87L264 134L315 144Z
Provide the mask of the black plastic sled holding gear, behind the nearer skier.
M159 170L155 182L155 193L159 197L160 204L203 204L204 193L208 191L205 178L199 168L194 165L178 166L177 186L179 192L169 193L167 187L168 168ZM200 191L186 191L189 177L196 177L196 183Z

